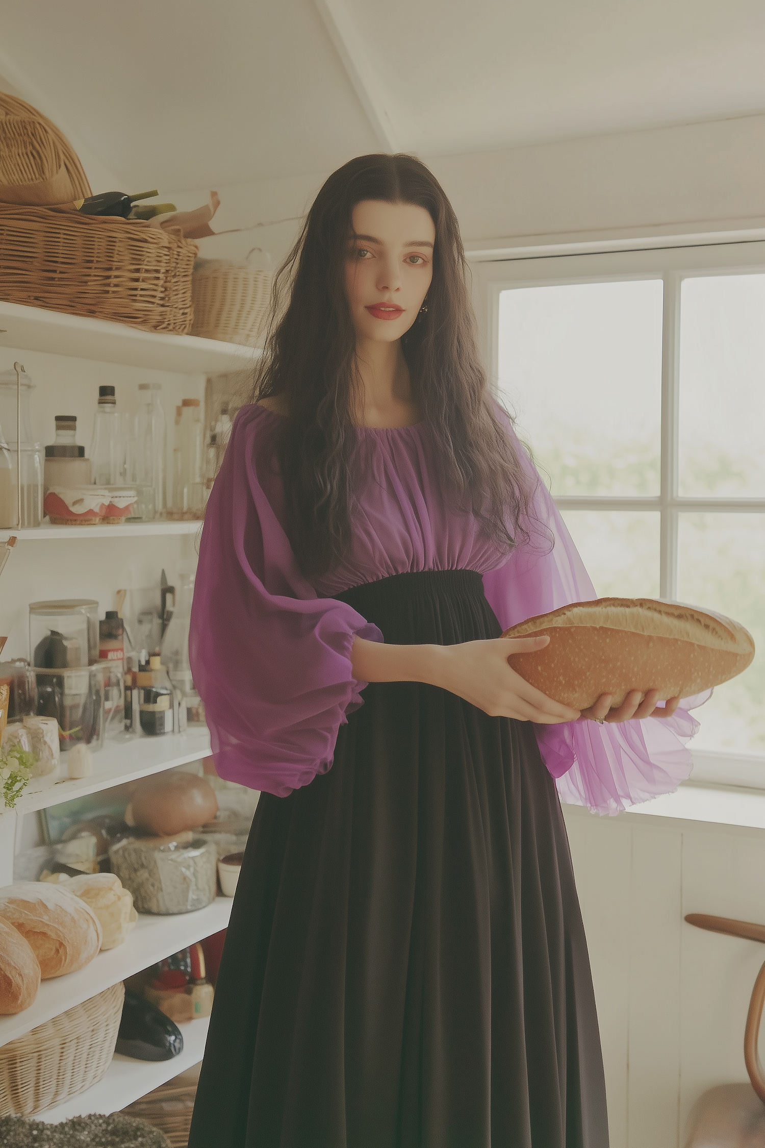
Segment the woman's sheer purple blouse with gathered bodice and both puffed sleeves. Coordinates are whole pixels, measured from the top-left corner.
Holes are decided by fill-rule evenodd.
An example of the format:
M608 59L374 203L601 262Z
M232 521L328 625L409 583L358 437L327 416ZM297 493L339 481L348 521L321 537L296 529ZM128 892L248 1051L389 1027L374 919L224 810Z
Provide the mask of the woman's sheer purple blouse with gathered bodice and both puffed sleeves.
M275 455L280 416L243 408L204 520L189 654L221 777L280 797L331 766L337 731L362 704L353 677L358 634L380 630L328 595L407 571L473 569L502 628L570 602L595 598L563 521L540 480L532 541L509 556L469 514L445 507L435 484L430 433L420 422L359 427L353 541L343 564L309 582L284 530ZM514 436L524 465L533 464ZM554 536L541 541L540 523ZM685 742L698 728L690 698L666 720L534 727L565 801L618 813L677 788L692 769Z

